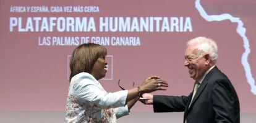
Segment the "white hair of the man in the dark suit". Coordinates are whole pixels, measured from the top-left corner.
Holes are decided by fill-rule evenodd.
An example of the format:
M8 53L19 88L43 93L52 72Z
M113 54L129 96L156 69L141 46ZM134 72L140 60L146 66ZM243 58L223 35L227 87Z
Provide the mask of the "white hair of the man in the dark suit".
M213 39L206 37L197 37L187 42L187 46L195 45L199 50L199 55L209 54L213 63L218 59L218 46Z

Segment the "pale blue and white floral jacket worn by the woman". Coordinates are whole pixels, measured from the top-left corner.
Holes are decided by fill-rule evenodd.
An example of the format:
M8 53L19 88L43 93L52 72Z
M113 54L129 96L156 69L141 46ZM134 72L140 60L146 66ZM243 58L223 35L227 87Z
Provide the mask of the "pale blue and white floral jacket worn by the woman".
M116 122L129 114L127 93L108 93L91 74L79 73L70 81L65 122Z

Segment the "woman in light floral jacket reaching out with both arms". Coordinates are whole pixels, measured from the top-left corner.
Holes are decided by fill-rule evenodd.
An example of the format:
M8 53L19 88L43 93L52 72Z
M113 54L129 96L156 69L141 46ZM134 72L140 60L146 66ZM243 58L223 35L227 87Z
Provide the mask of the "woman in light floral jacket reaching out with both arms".
M152 76L134 89L106 92L98 82L106 75L106 54L105 47L98 44L82 44L72 53L66 122L116 122L129 114L137 97L168 87L159 77Z

